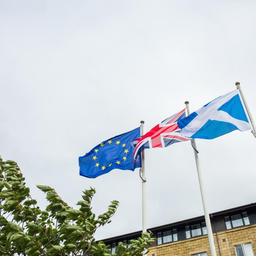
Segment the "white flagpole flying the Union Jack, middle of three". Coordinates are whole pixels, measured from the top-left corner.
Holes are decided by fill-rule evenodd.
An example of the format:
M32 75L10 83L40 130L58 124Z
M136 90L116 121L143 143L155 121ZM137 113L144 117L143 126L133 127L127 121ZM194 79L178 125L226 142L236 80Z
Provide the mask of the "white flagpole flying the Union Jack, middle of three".
M189 102L185 101L186 110L189 115L190 109L189 109L188 104L189 104ZM210 216L209 216L209 212L208 212L208 208L207 208L207 204L206 204L204 183L203 183L203 179L202 179L201 167L200 167L200 162L199 162L199 158L198 158L198 151L196 149L195 139L191 139L191 144L192 144L192 147L194 149L194 154L195 154L196 168L197 168L199 186L200 186L202 203L203 203L203 208L204 208L204 218L205 218L205 222L206 222L206 229L207 229L208 240L209 240L209 244L210 244L210 252L211 252L211 256L216 256L216 248L215 248L214 238L213 238L213 234L212 234L212 226L211 226L211 222L210 222Z

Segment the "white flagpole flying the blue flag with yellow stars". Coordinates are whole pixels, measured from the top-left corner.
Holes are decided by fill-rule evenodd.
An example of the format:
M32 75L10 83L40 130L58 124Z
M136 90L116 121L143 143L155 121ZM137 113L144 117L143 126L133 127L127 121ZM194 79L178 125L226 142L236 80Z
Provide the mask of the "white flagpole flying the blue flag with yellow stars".
M144 135L144 121L140 121L140 134ZM145 152L141 152L141 172L142 172L142 233L147 232L147 215L146 215L146 177L145 177Z

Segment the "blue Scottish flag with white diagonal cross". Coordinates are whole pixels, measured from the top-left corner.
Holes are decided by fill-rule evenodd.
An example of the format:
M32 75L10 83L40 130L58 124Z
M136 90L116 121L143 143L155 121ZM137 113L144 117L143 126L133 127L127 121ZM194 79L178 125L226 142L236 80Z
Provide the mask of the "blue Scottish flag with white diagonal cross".
M178 126L182 136L200 139L214 139L234 130L251 129L238 90L224 94L178 120Z

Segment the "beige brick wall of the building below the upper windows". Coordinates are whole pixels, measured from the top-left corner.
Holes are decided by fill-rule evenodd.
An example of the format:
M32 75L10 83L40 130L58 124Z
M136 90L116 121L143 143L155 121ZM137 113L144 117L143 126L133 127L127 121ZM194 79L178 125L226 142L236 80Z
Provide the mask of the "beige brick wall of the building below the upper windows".
M226 241L223 242L222 239L226 239ZM252 243L254 255L256 256L256 224L218 232L218 241L221 256L236 256L234 246L248 242ZM214 242L217 256L220 256L217 236L215 233ZM196 254L199 252L207 252L207 256L211 255L207 235L173 242L170 244L152 246L149 249L150 251L148 256L152 256L152 254L155 254L155 256L190 256L191 254Z

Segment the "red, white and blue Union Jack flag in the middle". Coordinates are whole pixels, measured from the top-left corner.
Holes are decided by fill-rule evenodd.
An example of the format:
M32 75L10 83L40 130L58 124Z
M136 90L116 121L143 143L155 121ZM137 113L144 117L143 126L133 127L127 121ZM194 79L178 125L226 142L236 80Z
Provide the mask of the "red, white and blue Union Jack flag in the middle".
M145 148L164 148L173 143L188 140L181 136L177 121L185 117L185 109L170 116L160 124L156 125L141 138L136 140L136 147L133 152L134 162L141 150Z

